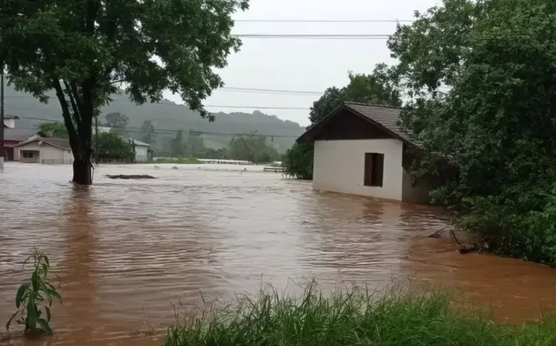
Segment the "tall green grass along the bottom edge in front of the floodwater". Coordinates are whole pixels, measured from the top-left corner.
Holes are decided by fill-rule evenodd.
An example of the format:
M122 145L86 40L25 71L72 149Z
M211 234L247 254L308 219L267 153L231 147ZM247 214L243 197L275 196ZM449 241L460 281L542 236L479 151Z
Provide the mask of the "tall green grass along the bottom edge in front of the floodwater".
M548 346L556 345L556 323L496 325L454 310L444 294L378 299L354 288L324 297L311 285L297 300L264 290L209 305L170 327L165 345Z

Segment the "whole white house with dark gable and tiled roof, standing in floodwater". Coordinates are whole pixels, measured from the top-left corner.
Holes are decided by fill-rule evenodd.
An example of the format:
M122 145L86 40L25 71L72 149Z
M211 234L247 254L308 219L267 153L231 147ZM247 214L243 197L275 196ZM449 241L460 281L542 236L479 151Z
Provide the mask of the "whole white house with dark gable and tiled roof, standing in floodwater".
M408 168L417 146L398 126L400 112L350 102L309 127L297 142L314 143L314 189L429 203L438 179L413 184Z

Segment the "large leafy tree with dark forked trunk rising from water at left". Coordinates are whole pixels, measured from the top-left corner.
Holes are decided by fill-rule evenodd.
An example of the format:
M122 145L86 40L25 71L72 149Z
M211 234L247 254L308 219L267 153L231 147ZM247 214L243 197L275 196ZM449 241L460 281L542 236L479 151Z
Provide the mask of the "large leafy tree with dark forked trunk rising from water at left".
M231 15L246 8L246 0L5 0L0 66L43 102L56 91L73 181L88 185L93 117L120 88L139 104L170 90L212 119L202 100L222 85L214 70L240 46Z

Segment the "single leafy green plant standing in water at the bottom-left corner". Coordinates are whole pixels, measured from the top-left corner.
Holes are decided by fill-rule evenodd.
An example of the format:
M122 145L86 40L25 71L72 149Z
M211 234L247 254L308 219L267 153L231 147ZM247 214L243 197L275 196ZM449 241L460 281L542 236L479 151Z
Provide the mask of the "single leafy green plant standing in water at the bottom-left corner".
M52 333L50 327L50 308L54 300L62 301L60 293L56 287L48 280L48 270L50 262L48 257L37 249L24 262L33 264L33 274L31 279L24 282L15 294L14 315L5 324L7 330L10 329L11 322L16 318L17 323L25 325L27 335L40 335Z

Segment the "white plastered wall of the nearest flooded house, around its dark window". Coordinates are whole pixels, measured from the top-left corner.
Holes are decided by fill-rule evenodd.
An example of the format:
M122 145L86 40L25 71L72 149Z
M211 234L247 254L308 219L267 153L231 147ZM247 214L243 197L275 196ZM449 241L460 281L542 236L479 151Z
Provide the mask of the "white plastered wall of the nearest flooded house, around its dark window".
M314 142L313 187L401 201L403 148L403 143L394 138L317 140ZM382 187L363 184L366 153L385 155Z

